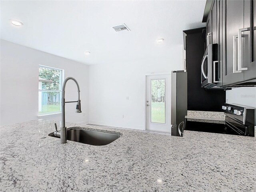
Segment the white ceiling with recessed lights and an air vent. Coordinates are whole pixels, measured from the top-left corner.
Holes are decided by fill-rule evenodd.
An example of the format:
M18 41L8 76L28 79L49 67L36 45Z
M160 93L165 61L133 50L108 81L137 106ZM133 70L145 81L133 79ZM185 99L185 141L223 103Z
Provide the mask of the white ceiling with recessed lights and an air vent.
M89 65L164 57L183 43L182 30L205 26L206 0L0 3L1 39ZM123 23L130 31L112 28Z

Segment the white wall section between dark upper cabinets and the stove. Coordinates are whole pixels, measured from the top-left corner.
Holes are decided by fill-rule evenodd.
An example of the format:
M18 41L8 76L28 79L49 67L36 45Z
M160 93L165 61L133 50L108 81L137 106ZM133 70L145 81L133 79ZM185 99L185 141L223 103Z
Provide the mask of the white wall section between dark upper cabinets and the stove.
M254 107L256 109L256 87L241 87L226 91L226 101ZM256 124L256 114L255 114Z

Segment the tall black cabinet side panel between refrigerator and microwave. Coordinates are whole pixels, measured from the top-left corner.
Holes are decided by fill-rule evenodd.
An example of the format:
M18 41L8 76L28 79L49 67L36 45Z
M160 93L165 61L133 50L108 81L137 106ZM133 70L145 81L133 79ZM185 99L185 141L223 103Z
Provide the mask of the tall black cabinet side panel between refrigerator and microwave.
M207 29L204 27L183 31L188 78L187 109L196 111L222 111L222 105L226 102L226 91L211 91L201 87L201 60L205 49L205 30Z

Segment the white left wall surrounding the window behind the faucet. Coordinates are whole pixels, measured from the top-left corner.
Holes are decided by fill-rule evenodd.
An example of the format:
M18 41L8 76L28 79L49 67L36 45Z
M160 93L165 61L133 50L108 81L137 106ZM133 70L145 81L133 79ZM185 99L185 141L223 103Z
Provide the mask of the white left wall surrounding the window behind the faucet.
M60 114L38 117L38 66L64 69L65 78L72 76L80 85L82 113L76 104L66 104L66 122L89 119L89 66L5 40L0 41L0 125L45 118L60 121ZM77 100L76 84L68 81L66 100Z

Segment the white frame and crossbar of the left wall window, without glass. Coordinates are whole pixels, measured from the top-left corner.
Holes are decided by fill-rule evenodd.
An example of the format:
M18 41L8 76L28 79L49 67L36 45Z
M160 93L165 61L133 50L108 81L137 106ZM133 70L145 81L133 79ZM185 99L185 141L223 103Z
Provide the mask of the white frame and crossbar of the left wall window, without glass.
M55 67L50 67L50 66L45 66L45 65L39 65L38 66L38 77L39 77L39 68L48 68L48 69L53 69L53 70L60 70L60 79L61 79L61 87L60 90L45 90L45 89L39 89L38 88L38 102L39 102L39 92L60 92L60 100L61 100L61 93L62 93L62 84L64 82L64 69L60 68L55 68ZM39 84L39 81L38 81ZM42 100L41 100L42 101ZM45 115L54 115L54 114L60 114L62 110L62 106L60 104L60 111L56 112L46 112L46 113L39 113L39 103L38 103L38 116L45 116Z

